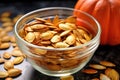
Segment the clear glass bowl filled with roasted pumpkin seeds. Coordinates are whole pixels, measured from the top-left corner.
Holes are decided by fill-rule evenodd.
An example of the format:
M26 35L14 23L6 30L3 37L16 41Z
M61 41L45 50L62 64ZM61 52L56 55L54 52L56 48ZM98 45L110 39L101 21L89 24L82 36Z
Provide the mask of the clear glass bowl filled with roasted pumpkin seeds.
M68 48L47 48L37 46L25 41L20 35L19 30L32 21L35 17L66 18L77 12L79 25L89 30L94 37L79 46ZM49 7L31 11L21 17L14 27L16 41L20 50L26 54L28 62L39 72L49 76L67 76L81 70L91 59L100 44L100 25L91 15L66 7ZM36 54L45 55L36 55Z

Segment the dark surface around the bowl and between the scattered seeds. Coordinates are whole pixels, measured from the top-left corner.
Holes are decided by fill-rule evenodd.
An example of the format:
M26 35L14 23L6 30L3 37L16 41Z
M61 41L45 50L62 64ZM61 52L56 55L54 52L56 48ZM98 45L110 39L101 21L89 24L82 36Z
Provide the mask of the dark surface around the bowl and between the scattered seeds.
M0 13L4 11L12 11L15 14L28 13L32 10L45 8L45 7L70 7L74 8L77 0L34 0L30 2L1 2L0 3ZM11 49L11 48L10 48ZM3 53L4 50L1 50L0 53ZM116 64L116 70L120 73L120 45L116 46L99 46L95 55L92 57L91 61L84 67L87 68L90 63L99 63L102 60L110 61ZM14 80L60 80L56 77L50 77L32 68L32 66L25 60L22 64L17 65L16 67L22 69L22 74ZM0 66L0 70L2 66ZM96 75L87 75L78 71L73 74L75 80L91 80L94 77L99 77L99 74ZM0 79L4 80L4 79Z

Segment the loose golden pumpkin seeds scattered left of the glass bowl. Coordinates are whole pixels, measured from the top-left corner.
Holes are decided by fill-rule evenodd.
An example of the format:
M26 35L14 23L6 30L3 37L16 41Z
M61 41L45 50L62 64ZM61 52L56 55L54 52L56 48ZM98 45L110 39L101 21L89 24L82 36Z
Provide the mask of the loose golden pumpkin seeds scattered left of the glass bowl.
M13 80L22 73L21 69L15 68L24 61L25 55L19 50L15 37L12 35L16 21L22 16L16 15L11 17L12 13L5 11L0 14L0 66L4 70L0 70L0 78L5 80ZM12 47L12 50L9 49Z

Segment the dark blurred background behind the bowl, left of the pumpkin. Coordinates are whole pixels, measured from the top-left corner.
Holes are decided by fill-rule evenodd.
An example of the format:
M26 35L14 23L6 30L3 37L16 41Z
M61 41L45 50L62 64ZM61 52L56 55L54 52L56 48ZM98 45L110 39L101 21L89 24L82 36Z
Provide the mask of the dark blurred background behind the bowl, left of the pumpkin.
M44 7L73 8L76 2L77 0L0 0L0 11L10 10L17 13L27 13Z

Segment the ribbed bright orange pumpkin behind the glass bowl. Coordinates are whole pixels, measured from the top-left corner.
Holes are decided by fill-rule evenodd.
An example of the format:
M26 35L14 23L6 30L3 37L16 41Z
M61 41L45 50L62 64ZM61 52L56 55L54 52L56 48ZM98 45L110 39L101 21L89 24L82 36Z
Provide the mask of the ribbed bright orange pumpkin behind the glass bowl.
M78 0L74 8L98 20L102 29L101 45L120 44L120 0Z

